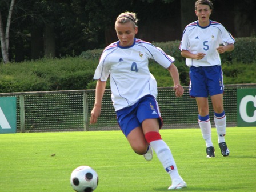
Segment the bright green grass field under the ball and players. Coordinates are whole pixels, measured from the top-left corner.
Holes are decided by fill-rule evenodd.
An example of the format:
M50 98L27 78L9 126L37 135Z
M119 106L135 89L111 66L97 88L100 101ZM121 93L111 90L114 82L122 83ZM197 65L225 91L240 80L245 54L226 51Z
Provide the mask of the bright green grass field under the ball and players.
M227 128L229 157L213 129L215 158L206 158L199 129L161 130L187 188L178 191L256 191L256 127ZM0 134L0 191L73 191L80 165L99 175L96 191L168 191L169 175L157 156L135 154L121 131ZM53 155L55 154L55 155Z

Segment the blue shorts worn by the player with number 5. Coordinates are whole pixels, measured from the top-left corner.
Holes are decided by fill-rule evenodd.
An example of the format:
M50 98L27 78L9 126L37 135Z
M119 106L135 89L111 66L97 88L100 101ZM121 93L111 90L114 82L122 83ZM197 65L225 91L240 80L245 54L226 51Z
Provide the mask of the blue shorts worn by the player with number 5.
M208 97L221 94L224 91L221 66L194 67L189 70L191 97Z

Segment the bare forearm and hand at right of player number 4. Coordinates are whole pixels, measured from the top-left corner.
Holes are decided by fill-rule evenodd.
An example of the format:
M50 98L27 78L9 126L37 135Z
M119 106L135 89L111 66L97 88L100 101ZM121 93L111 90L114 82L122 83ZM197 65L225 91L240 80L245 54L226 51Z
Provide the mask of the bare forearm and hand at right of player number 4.
M171 63L167 70L170 72L171 77L173 78L175 95L177 97L181 97L184 93L184 89L179 83L179 71L177 67L174 65L174 63Z

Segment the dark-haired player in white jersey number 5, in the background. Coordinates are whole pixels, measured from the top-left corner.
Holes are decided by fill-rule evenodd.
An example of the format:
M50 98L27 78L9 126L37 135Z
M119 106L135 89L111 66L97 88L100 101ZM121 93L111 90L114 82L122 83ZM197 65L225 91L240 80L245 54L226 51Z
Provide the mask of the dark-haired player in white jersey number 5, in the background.
M198 21L185 27L180 45L181 55L190 67L190 96L198 106L198 123L206 142L208 158L215 157L211 141L211 123L209 118L208 95L210 94L214 110L214 121L218 134L221 154L226 157L229 149L225 142L226 115L223 107L223 74L219 54L234 50L235 39L221 25L211 21L213 3L209 0L195 2L195 15Z

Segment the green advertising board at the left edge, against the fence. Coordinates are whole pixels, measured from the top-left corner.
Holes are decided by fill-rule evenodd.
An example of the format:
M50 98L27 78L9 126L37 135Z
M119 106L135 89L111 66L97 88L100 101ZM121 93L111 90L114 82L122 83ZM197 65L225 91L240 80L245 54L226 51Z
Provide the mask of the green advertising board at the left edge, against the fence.
M16 133L16 97L0 97L0 133Z

